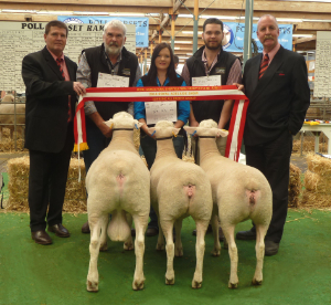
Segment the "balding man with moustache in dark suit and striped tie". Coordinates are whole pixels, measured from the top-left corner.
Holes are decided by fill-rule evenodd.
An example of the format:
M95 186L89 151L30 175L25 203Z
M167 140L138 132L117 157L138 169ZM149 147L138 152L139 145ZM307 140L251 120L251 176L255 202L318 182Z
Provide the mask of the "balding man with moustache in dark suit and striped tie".
M303 56L285 50L273 15L257 23L263 54L247 61L243 84L249 98L244 130L246 162L259 169L273 190L273 219L265 238L265 254L278 253L288 207L289 164L292 135L305 120L310 103ZM256 231L237 233L239 240L255 240Z

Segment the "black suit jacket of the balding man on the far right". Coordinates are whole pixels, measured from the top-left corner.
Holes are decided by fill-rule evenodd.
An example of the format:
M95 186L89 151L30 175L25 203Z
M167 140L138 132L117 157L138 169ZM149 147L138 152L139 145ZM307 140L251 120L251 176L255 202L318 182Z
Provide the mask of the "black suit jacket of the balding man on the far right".
M286 129L296 135L302 127L310 104L305 57L280 46L270 65L258 80L263 54L247 61L243 83L249 98L245 145L276 139Z

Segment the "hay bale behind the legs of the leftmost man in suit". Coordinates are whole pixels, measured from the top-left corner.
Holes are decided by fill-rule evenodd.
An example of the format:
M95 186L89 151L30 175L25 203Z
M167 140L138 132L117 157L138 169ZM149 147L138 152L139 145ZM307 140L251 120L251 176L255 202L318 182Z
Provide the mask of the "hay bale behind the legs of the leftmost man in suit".
M81 182L78 182L78 166L81 166ZM8 161L9 202L7 210L29 211L29 170L30 158L28 156ZM85 165L83 160L71 159L63 211L86 212Z

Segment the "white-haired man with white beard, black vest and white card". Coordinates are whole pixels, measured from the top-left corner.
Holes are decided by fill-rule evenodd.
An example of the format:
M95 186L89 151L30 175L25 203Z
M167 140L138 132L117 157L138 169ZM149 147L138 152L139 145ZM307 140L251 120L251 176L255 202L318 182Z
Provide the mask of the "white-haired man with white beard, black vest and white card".
M89 48L82 52L77 70L77 80L87 87L104 86L111 83L118 87L126 82L128 86L136 86L141 77L138 57L126 50L127 29L119 20L111 20L105 24L103 40L99 46ZM127 80L124 80L126 77ZM84 150L86 173L104 148L111 139L111 129L104 124L118 112L132 113L132 103L126 102L86 102L84 109L86 115L86 137L89 149ZM88 222L82 228L83 233L89 233Z

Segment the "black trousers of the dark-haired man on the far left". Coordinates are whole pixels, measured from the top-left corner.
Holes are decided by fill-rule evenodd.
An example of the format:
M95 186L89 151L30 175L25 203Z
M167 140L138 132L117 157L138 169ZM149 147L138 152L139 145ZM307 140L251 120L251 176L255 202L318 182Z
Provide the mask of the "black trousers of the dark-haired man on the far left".
M73 124L60 152L30 149L29 207L31 232L62 223L67 171L74 146ZM49 208L49 212L47 212Z

